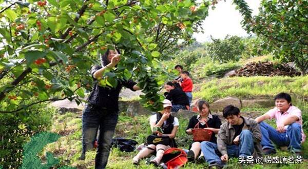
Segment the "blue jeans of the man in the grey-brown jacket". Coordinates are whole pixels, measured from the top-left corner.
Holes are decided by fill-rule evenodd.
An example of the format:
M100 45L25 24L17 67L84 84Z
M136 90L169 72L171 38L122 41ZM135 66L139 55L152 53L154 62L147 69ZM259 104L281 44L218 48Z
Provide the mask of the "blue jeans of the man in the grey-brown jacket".
M209 141L201 142L201 151L204 154L206 162L211 165L223 166L223 163L218 156L217 144ZM249 130L243 130L240 134L239 145L227 145L227 154L230 157L247 157L254 153L254 138L253 133Z

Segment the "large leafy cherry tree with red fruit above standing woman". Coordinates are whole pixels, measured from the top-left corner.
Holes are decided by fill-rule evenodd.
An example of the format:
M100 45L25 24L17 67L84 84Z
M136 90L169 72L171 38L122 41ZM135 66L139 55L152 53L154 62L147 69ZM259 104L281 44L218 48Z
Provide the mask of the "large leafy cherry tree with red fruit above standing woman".
M0 112L13 113L45 101L82 102L84 89L91 87L91 65L113 44L122 51L115 70L120 75L107 72L101 85L115 86L115 78L120 77L137 78L145 93L144 106L160 109L158 91L163 81L158 75L163 69L159 60L176 49L178 39L190 41L210 4L30 0L4 5L0 11Z

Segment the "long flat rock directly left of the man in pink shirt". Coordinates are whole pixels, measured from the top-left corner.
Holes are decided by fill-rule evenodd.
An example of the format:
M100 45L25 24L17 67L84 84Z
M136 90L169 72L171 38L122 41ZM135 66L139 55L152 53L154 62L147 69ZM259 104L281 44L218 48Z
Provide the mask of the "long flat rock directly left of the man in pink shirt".
M252 99L242 100L243 108L269 108L275 105L274 99Z

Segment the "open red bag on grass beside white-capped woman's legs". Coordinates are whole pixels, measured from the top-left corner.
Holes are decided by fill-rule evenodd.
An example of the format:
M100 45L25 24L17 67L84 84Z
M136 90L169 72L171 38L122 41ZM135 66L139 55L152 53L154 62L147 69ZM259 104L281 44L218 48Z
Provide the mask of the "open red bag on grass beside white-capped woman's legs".
M167 165L168 169L183 166L187 161L187 154L178 148L169 148L165 151L162 161Z

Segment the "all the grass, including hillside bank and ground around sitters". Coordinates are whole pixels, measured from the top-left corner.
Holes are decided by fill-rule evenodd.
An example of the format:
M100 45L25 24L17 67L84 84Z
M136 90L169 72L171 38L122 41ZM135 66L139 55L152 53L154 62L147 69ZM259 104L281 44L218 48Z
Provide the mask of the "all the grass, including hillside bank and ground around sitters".
M234 77L214 79L208 82L196 85L194 98L203 98L210 102L226 96L236 96L239 98L273 98L279 92L292 94L293 103L303 112L304 129L308 134L308 76L305 77ZM245 108L242 114L255 113L261 115L268 111L264 108ZM150 134L148 116L129 117L122 113L119 117L119 123L115 131L115 137L124 137L134 139L139 144L145 142ZM185 128L188 119L180 118L180 128L177 133L177 143L180 148L188 149L191 143L191 136L187 136ZM70 165L76 168L94 168L95 150L87 153L85 161L78 160L80 156L81 145L81 112L66 113L64 115L56 114L53 117L54 125L52 132L61 134L57 142L49 144L44 152L51 151L61 159L60 165ZM275 126L275 121L268 121ZM308 141L303 144L304 156L308 157ZM108 168L136 168L132 165L131 159L138 152L123 153L118 149L112 148L110 153ZM279 150L274 156L291 156L290 152ZM44 157L42 157L44 159ZM303 164L265 164L248 165L238 164L238 159L229 161L227 168L308 168L308 161ZM184 168L204 168L207 164L187 163ZM138 168L155 168L146 164L142 160Z

